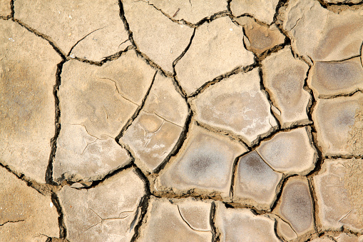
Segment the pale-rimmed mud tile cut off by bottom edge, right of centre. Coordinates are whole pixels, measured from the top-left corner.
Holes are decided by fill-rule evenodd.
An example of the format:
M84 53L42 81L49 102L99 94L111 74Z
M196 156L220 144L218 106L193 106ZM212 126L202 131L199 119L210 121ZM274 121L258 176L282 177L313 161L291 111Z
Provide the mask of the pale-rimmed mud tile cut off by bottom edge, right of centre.
M280 241L274 231L275 220L257 216L250 209L225 208L218 203L215 220L220 241Z

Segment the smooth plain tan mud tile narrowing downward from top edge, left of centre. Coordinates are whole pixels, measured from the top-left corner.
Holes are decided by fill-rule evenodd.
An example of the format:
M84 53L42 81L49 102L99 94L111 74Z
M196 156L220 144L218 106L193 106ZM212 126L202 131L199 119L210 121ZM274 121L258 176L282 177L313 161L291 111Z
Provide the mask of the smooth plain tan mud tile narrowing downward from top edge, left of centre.
M124 0L123 11L138 49L165 71L173 72L173 61L188 46L193 29L174 23L148 1Z

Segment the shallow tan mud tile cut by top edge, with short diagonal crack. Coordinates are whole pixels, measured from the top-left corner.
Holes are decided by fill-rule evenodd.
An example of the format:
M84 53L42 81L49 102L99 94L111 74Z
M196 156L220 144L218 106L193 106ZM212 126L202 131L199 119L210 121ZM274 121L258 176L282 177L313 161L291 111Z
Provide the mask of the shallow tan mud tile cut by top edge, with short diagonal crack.
M192 24L220 11L227 11L227 1L203 1L203 0L150 0L156 8L176 20L185 20Z

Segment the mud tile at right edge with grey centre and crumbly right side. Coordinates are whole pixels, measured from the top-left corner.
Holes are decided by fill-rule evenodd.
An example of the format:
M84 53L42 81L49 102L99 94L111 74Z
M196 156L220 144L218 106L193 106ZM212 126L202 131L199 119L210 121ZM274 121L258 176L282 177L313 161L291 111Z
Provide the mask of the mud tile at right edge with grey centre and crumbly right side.
M363 94L319 99L312 114L324 156L362 154Z

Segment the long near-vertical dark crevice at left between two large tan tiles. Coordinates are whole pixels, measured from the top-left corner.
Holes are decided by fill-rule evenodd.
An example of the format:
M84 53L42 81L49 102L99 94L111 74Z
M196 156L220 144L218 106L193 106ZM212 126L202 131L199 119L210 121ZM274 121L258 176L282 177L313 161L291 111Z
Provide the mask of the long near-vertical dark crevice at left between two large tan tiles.
M54 104L56 110L55 121L54 121L55 131L53 138L51 138L51 154L49 155L48 167L46 168L46 177L45 177L46 183L51 185L57 185L57 183L53 181L53 160L56 157L57 139L59 133L61 132L61 109L59 108L58 91L59 91L59 86L61 86L61 74L64 63L66 63L66 60L63 59L63 61L61 61L61 63L57 65L56 84L53 86L53 96L55 100Z

